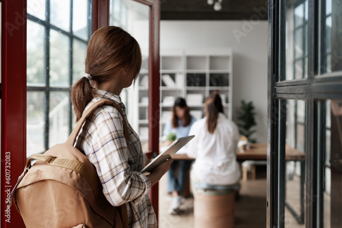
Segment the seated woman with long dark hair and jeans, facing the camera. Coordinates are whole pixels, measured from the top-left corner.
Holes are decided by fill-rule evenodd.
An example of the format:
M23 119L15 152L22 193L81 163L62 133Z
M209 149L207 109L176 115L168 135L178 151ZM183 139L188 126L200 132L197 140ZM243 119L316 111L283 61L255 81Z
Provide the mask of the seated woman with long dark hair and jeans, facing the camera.
M172 106L172 119L165 124L163 139L165 140L170 133L176 134L177 138L188 136L195 121L196 119L190 115L187 102L183 98L177 98ZM191 164L191 160L174 160L170 166L167 182L168 193L173 197L168 211L170 214L181 214L179 208L185 202L183 191L187 181L187 171L189 171ZM177 176L175 175L176 168Z

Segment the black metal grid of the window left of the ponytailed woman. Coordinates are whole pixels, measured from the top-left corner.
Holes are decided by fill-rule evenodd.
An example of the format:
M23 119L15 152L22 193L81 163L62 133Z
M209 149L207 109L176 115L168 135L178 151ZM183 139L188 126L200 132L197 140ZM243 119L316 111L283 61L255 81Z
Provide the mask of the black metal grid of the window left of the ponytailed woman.
M77 40L79 42L83 42L84 44L88 44L88 40L90 39L90 35L92 32L92 21L91 21L91 15L92 15L92 0L88 0L88 40L84 40L83 38L79 38L77 35L73 33L73 0L70 0L70 31L65 31L64 29L60 29L59 27L55 25L50 24L50 0L46 0L45 5L46 10L46 20L41 20L40 18L37 18L36 16L33 16L31 14L27 14L27 20L31 20L34 23L37 23L38 25L42 25L44 27L45 36L44 36L44 77L45 77L45 85L42 86L31 86L27 85L27 91L44 91L44 149L49 149L49 106L50 106L50 93L51 91L66 91L70 92L71 85L73 85L73 41ZM63 35L66 35L69 38L69 59L68 59L68 87L51 87L50 86L50 74L49 74L49 68L50 68L50 31L54 30L59 33L62 33ZM69 116L69 133L73 129L73 122L72 122L72 116L73 111L71 109L71 103L69 106L68 111Z

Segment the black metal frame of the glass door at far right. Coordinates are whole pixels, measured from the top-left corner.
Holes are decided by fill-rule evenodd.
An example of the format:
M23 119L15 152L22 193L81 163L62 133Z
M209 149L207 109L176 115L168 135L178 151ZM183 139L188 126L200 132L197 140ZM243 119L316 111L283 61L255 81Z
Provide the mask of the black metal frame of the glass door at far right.
M278 81L285 77L284 0L269 0L268 13L268 115L267 125L267 227L285 227L284 208L285 113L284 99L306 100L305 226L323 226L324 180L324 104L327 99L342 99L342 72L320 75L320 55L324 38L321 1L308 0L308 78ZM310 203L307 203L310 202Z

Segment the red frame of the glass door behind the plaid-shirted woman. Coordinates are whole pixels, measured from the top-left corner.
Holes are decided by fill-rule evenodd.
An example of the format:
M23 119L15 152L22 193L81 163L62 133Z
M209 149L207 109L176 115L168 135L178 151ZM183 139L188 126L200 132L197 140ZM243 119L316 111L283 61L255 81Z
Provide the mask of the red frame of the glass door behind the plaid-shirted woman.
M149 137L148 155L159 152L159 25L160 25L160 1L159 0L133 0L150 7L150 53L149 53L149 110L148 110L148 123L149 124ZM109 25L109 0L95 0L94 4L94 30L99 27ZM159 186L155 184L150 189L150 199L158 219L159 199L158 199Z

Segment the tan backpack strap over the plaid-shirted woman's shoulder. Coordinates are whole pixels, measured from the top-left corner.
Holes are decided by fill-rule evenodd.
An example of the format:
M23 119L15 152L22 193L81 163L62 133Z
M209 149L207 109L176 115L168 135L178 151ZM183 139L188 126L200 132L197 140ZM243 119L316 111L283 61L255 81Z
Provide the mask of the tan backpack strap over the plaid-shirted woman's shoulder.
M102 106L104 104L112 104L114 107L116 107L116 109L118 109L119 113L122 116L122 119L124 120L124 139L126 139L127 145L129 144L129 130L128 130L126 119L124 119L124 115L122 115L121 108L118 106L118 104L116 104L116 102L111 101L111 100L98 100L94 102L94 104L92 104L92 106L90 106L89 109L87 109L87 111L83 113L81 119L79 119L79 122L75 126L73 132L71 132L70 136L68 137L66 144L69 144L69 145L75 144L76 137L77 135L79 135L79 131L81 130L84 122L86 122L87 117L89 117L90 114L92 114L92 112L95 111L99 106Z

